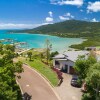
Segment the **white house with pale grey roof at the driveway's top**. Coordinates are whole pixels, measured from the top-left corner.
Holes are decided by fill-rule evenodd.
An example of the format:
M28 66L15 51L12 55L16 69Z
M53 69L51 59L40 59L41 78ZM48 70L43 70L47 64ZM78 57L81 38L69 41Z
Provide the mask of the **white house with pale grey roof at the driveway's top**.
M75 61L79 56L88 57L88 51L67 51L62 54L58 54L53 57L53 66L66 73L74 74L75 70L73 68Z

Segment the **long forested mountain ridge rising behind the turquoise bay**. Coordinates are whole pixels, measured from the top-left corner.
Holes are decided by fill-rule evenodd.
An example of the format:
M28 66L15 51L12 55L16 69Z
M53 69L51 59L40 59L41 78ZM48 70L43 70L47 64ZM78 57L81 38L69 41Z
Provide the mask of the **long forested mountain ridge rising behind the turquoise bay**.
M67 20L20 32L51 34L62 37L93 37L100 36L100 22Z

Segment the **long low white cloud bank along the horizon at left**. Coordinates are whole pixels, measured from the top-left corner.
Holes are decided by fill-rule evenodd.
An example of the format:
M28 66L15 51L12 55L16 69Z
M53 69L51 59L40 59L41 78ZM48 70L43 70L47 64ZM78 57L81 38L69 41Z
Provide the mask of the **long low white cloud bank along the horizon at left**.
M41 23L41 24L14 24L14 23L0 23L0 29L31 29L41 25L46 25L49 23Z

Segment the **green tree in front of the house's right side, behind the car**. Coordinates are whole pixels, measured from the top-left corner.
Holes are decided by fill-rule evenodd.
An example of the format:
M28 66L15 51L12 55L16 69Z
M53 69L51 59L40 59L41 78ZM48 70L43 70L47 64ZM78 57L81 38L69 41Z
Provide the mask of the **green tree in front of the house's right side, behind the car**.
M96 62L96 58L91 55L88 58L86 58L85 56L80 56L78 60L76 60L74 68L76 70L76 73L78 73L81 81L86 78L89 68Z

